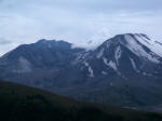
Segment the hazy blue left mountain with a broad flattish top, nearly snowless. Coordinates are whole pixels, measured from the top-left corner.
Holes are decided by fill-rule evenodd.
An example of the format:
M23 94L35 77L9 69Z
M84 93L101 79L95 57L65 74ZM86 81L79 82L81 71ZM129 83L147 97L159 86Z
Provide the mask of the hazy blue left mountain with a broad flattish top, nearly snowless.
M41 80L45 78L48 81L53 80L69 66L76 53L82 51L83 49L71 49L68 42L55 40L42 39L37 43L23 44L0 58L0 71L2 71L0 77L43 86Z

